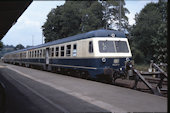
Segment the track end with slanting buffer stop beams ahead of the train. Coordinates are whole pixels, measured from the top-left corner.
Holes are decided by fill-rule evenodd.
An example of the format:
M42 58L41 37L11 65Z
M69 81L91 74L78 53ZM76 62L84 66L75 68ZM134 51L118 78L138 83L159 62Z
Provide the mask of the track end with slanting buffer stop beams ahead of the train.
M157 64L151 63L156 72L143 72L133 69L130 79L117 79L115 85L167 97L167 73Z

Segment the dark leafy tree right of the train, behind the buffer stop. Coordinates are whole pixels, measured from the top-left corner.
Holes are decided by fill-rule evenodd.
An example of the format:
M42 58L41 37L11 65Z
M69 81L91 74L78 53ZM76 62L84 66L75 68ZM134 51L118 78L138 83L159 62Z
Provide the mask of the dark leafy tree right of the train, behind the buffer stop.
M140 52L144 55L146 62L150 62L151 59L155 62L158 61L158 56L167 51L166 10L166 2L159 1L158 3L147 4L135 16L136 24L131 28L131 46L138 53ZM134 51L134 54L138 53ZM137 59L138 57L135 58L135 60Z

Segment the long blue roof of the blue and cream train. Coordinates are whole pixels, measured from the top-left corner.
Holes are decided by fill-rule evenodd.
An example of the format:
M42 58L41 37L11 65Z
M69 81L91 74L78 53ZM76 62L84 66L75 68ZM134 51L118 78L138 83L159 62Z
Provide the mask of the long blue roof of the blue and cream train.
M45 46L81 40L81 39L88 39L88 38L92 38L92 37L94 37L94 38L95 37L112 37L112 34L115 34L115 37L126 38L125 33L123 33L122 31L99 29L99 30L89 31L89 32L86 32L86 33L82 33L82 34L58 39L58 40L55 40L55 41L51 41L51 42L48 42L48 43L45 43L45 44L29 47L29 48L26 48L26 49L13 51L13 52L10 52L10 53L17 53L17 52L21 52L21 51L26 51L26 50L45 47Z

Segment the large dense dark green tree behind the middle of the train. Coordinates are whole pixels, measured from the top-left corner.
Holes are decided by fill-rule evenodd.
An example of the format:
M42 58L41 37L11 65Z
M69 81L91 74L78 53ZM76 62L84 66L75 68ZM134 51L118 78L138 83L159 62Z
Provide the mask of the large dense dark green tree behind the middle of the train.
M66 1L47 16L45 42L104 27L103 6L97 1Z

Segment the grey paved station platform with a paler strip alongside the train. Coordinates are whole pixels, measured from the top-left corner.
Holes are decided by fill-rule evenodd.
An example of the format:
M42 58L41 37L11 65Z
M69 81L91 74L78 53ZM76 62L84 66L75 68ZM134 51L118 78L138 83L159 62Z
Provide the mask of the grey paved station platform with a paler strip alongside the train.
M2 63L0 73L44 112L167 112L167 98L136 90Z

